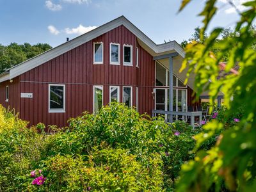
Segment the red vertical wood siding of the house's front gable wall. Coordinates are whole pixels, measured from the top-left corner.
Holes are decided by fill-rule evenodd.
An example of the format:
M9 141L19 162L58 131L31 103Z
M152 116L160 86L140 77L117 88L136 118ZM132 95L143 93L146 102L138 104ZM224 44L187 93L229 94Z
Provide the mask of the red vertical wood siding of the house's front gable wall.
M93 65L93 42L104 43L103 65ZM111 42L120 44L120 65L109 65ZM123 65L124 44L132 45L132 67ZM139 48L139 68L136 67L136 47ZM49 83L66 85L66 113L48 113ZM138 87L140 112L151 114L154 108L153 57L138 45L136 36L124 26L22 74L20 92L33 93L33 99L20 99L20 117L31 122L31 125L43 122L46 125L65 126L70 117L81 115L83 111L92 113L93 85L104 86L104 105L109 103L109 86L113 85L120 86L120 101L123 86L132 86L132 104L135 106Z

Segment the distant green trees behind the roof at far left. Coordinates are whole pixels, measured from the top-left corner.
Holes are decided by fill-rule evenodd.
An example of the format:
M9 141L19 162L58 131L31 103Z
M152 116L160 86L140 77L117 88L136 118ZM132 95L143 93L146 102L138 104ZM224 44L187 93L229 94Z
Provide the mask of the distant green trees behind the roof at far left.
M0 73L51 48L48 44L18 45L12 43L7 46L0 44Z

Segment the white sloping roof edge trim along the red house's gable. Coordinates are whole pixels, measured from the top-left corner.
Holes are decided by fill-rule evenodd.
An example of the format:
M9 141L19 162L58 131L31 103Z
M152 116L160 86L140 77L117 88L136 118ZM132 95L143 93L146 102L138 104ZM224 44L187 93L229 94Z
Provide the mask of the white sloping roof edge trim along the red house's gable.
M65 42L64 44L54 47L49 51L43 52L42 54L26 60L19 65L15 65L14 67L9 68L6 70L6 72L0 74L0 83L9 79L13 79L20 74L24 74L24 72L38 67L39 65L42 65L43 63L52 60L53 58L56 58L57 56L60 56L61 54L70 51L79 45L89 42L90 40L97 38L97 36L103 35L104 33L107 33L108 31L111 31L112 29L122 25L137 36L140 45L146 51L152 54L152 56L158 56L160 54L172 51L177 52L180 56L182 56L182 58L184 58L185 52L177 42L172 41L166 44L157 45L152 40L150 40L148 36L141 32L140 29L136 28L136 26L134 26L129 20L127 20L124 16L121 16L102 26L99 26L96 29L93 29L92 31L89 31L88 33L77 36L76 38Z

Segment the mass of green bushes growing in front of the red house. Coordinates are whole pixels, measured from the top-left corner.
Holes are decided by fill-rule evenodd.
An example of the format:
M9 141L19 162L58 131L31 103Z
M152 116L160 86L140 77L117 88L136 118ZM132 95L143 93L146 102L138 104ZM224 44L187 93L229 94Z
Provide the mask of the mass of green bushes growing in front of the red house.
M1 191L172 191L181 165L194 157L198 131L124 104L48 132L0 109ZM47 178L42 186L32 184L34 170Z

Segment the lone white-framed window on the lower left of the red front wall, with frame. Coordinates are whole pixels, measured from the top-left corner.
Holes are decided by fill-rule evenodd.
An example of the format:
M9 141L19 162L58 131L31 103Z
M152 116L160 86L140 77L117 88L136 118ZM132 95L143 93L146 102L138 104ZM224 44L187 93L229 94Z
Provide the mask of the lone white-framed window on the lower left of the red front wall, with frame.
M65 84L49 84L49 113L65 113Z

